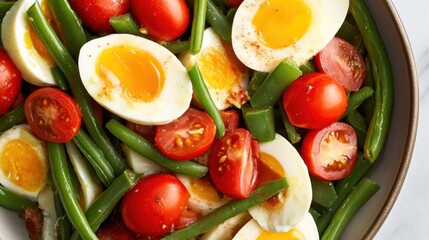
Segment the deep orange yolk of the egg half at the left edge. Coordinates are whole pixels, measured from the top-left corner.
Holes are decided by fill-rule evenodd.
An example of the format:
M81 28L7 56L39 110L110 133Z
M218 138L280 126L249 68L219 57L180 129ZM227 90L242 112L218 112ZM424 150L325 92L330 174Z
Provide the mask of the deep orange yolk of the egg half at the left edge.
M0 168L15 185L37 191L43 185L46 167L37 152L25 141L9 141L0 154Z

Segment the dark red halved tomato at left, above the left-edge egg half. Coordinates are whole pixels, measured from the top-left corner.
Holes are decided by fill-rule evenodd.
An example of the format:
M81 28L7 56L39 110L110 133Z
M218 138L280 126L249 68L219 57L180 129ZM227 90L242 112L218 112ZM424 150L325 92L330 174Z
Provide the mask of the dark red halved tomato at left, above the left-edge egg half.
M68 142L80 128L82 114L76 101L56 88L32 92L25 100L24 111L34 134L49 142Z

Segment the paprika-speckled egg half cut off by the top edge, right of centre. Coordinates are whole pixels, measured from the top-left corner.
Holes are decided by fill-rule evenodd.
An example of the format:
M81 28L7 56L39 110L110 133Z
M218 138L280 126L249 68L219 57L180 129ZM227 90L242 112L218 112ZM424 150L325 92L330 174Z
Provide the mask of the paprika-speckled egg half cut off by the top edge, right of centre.
M348 6L348 0L245 0L232 26L234 52L262 72L283 60L301 65L334 37Z

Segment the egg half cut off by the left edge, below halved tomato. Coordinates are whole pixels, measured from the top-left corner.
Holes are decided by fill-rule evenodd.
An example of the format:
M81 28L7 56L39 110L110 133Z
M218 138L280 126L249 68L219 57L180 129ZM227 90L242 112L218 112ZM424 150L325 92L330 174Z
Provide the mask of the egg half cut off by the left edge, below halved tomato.
M36 200L45 186L48 155L45 143L27 124L17 125L0 135L0 184Z

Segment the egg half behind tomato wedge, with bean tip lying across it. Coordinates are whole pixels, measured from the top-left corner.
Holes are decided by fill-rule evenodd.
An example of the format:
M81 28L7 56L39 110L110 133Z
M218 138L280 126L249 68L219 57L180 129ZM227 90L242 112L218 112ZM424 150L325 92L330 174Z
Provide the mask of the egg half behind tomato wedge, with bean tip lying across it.
M297 150L281 135L260 143L259 183L286 177L289 187L263 204L249 209L263 229L285 232L302 220L312 199L310 176Z

